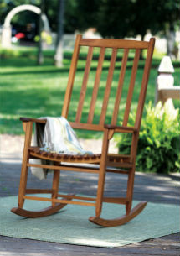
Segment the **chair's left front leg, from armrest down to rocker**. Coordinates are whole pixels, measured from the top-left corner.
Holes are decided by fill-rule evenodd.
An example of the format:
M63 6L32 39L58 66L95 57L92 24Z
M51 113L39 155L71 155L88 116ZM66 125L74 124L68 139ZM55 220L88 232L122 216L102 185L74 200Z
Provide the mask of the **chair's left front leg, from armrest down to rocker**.
M19 208L23 207L23 203L24 203L23 196L25 196L26 185L28 180L28 166L27 166L28 160L29 160L28 147L31 144L33 123L32 122L24 123L23 128L25 131L25 141L24 141L24 148L23 148L23 162L22 162L22 168L21 168L21 177L20 177L20 184L19 184L19 191L18 191L18 207Z

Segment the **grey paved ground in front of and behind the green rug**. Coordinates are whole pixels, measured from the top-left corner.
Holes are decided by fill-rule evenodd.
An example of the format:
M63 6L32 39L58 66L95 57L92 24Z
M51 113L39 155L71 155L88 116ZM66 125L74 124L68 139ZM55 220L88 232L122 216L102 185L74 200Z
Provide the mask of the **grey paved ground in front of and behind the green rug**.
M18 195L18 183L21 168L23 137L1 137L0 165L0 196ZM89 143L89 141L87 142ZM97 145L98 142L95 143ZM8 149L8 150L7 150ZM47 180L39 181L33 175L28 177L28 186L49 187L52 175ZM108 174L105 194L116 196L118 187L122 193L126 190L124 175ZM179 175L155 175L136 173L134 199L142 201L179 204ZM82 193L95 196L96 175L83 175L74 172L62 172L61 191ZM79 184L77 187L77 183ZM119 195L120 196L120 195ZM180 234L172 234L162 238L150 239L141 243L127 245L121 248L92 248L61 243L40 242L30 239L8 238L0 236L0 255L180 255Z

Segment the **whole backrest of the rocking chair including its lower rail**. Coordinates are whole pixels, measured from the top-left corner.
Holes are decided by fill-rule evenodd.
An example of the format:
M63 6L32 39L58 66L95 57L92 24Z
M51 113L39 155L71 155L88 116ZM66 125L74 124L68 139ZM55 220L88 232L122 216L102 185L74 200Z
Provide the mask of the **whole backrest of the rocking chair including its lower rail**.
M74 88L74 84L76 82L78 87L80 84L79 81L75 81L76 72L82 72L82 67L78 67L79 58L81 57L82 59L85 48L88 48L85 71L81 82L82 86L80 89L79 102L78 106L76 107L76 111L75 106L73 105L72 116L74 116L75 119L69 121L73 121L74 128L85 128L92 130L102 130L105 123L127 127L131 108L132 111L134 111L134 108L136 108L136 120L134 127L139 129L147 91L147 81L152 62L154 41L155 39L150 39L149 42L126 39L82 39L82 36L78 34L75 40L75 50L69 71L69 81L65 93L62 116L69 118L69 105L73 101L71 98L72 96L77 96L78 91ZM80 55L81 48L83 50L83 56ZM95 59L97 59L95 53L97 49L100 49L100 53L95 68ZM110 55L110 49L111 60L108 64L107 62L108 56ZM141 63L142 60L140 60L141 50L147 50L146 57L144 59L145 64L143 66ZM144 52L145 51L143 51L143 54ZM82 62L82 60L80 61ZM109 66L107 66L107 64ZM139 85L139 87L138 84L136 84L138 64L141 65L141 71L143 70L143 72L140 71L138 74L138 76L141 76L141 85ZM92 77L90 76L91 72L94 76L93 82L90 82ZM105 72L106 79L103 72ZM104 80L105 86L100 87L100 84L103 83ZM88 89L88 86L90 86L90 89ZM73 92L74 89L75 93ZM132 107L131 103L132 98L136 97L136 95L133 96L133 91L134 94L137 94L137 91L139 93L139 97L136 98L136 107L134 107L134 105ZM98 100L98 96L103 94L104 97L100 97L100 102L100 100ZM124 94L126 94L126 102L121 101L121 96ZM85 104L87 104L86 97L90 97L90 100L87 101L89 102L89 107L84 107ZM124 98L125 97L123 97L123 99ZM111 105L110 108L109 103ZM114 104L113 107L112 104ZM89 112L85 112L84 118L82 118L84 108L89 108ZM95 109L97 110L97 113L99 112L99 117L97 116L97 113L95 113ZM111 120L110 118L108 119L108 113L111 113ZM83 122L81 121L82 119Z

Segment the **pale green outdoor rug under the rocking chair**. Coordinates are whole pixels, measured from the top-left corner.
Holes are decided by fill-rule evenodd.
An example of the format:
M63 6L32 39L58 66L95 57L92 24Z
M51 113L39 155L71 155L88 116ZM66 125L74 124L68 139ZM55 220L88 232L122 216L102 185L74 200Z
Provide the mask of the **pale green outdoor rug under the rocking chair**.
M119 247L149 238L158 238L179 232L179 206L148 203L143 212L120 227L99 227L88 221L95 216L90 206L65 206L49 217L29 219L19 217L10 209L17 206L18 196L0 199L0 235L30 238L55 243L69 243L103 248ZM136 205L137 201L134 201ZM26 201L24 208L40 210L49 206L41 201ZM105 204L102 217L123 215L125 206Z

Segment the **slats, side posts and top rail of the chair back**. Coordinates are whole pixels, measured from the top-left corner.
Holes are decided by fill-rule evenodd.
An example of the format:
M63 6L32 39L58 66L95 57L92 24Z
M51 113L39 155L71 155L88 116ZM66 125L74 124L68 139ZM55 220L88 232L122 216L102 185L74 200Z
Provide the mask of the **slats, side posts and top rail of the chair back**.
M102 40L102 41L101 41ZM133 60L133 66L131 70L131 79L129 83L129 88L127 92L127 97L126 97L126 107L125 107L125 113L124 113L124 119L122 122L123 126L127 126L128 123L128 118L129 118L129 113L131 110L131 101L133 97L133 91L134 91L134 86L135 86L135 80L136 80L136 72L137 72L137 66L138 66L138 61L140 57L140 51L141 49L147 49L147 58L146 58L146 63L145 63L145 68L144 68L144 73L142 76L142 81L141 81L141 91L140 91L140 96L139 96L139 102L137 105L137 111L136 111L136 121L135 121L135 128L140 128L141 124L141 116L142 116L142 110L145 102L145 95L147 91L147 81L148 81L148 76L149 76L149 71L150 71L150 65L152 61L152 52L153 52L153 47L154 47L154 41L155 39L151 39L150 42L135 42L131 41L128 43L128 45L125 44L125 40L118 40L118 41L106 41L104 39L101 39L100 42L98 41L92 41L93 44L89 43L87 46L89 47L88 50L88 55L85 63L85 72L84 72L84 77L83 77L83 82L82 86L80 89L80 101L78 103L77 107L77 113L75 116L75 122L80 123L80 119L82 116L83 112L83 106L85 103L85 94L87 91L87 84L88 84L88 78L90 74L90 63L93 57L93 50L94 47L100 47L100 57L98 60L98 65L97 65L97 71L95 73L95 81L94 81L94 88L92 91L92 98L90 101L90 111L88 115L88 120L87 123L93 123L94 115L95 115L95 106L97 102L97 97L98 97L98 92L100 88L100 77L102 73L102 68L103 68L103 63L105 59L105 49L108 47L112 47L112 54L111 54L111 61L110 61L110 67L106 79L106 85L105 85L105 93L104 93L104 98L102 102L102 107L101 107L101 113L100 113L100 126L105 123L105 117L106 117L106 112L107 112L107 107L108 107L108 102L109 102L109 97L111 95L111 83L113 80L114 76L114 69L116 65L116 56L117 56L117 50L118 49L124 49L124 55L121 61L121 71L119 75L119 81L117 83L117 90L116 90L116 98L115 98L115 105L113 109L113 115L111 118L111 124L116 125L117 118L118 118L118 112L119 112L119 106L121 102L121 97L122 97L122 92L123 92L123 84L125 83L125 76L126 76L126 65L127 65L127 59L128 59L128 54L129 50L134 49L136 50L135 57ZM89 41L88 41L89 42ZM91 41L90 41L91 42ZM115 44L114 44L115 42ZM100 43L100 45L99 45ZM111 45L109 45L111 43ZM130 44L131 43L131 44ZM102 44L102 45L101 45ZM71 61L71 66L70 66L70 71L69 71L69 80L68 80L68 85L64 97L64 107L62 110L62 116L64 118L68 118L68 112L69 112L69 103L71 100L71 95L72 95L72 90L74 86L74 81L75 81L75 71L77 68L77 62L78 62L78 57L80 53L80 46L86 45L86 41L82 39L82 36L79 34L76 37L75 40L75 50L74 54L72 57ZM114 102L114 101L113 101Z

